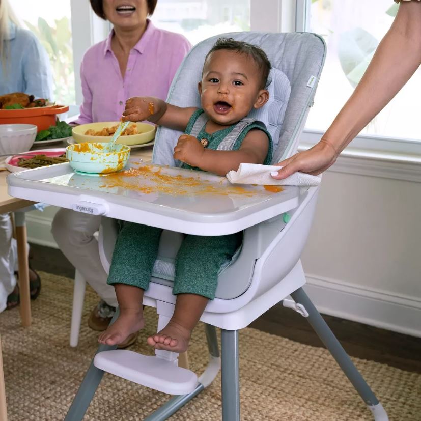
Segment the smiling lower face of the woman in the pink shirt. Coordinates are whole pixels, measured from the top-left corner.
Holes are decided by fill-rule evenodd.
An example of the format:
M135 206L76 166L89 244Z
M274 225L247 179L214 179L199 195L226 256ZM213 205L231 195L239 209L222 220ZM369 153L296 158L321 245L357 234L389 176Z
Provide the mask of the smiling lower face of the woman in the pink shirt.
M102 5L107 20L122 29L144 25L149 12L146 0L102 0Z

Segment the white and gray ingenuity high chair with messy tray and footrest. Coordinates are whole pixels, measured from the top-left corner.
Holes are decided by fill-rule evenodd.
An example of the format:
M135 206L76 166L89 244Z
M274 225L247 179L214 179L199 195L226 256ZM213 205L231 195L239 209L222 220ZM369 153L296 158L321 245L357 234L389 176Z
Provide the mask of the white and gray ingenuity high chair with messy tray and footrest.
M250 116L266 123L275 144L272 162L279 162L297 149L308 110L313 105L325 59L325 44L322 38L310 33L245 32L225 34L224 37L261 46L272 63L274 69L268 86L270 100ZM201 79L205 55L217 38L205 40L190 51L174 78L169 102L179 106L200 106L197 81ZM165 175L191 176L188 170L178 169L179 162L173 159L179 134L160 127L152 161L157 165L170 165L159 166L159 171ZM228 181L224 182L221 177L194 173L198 173L195 176L203 183L222 183L229 187ZM244 230L241 249L219 274L216 298L208 303L201 317L209 348L205 372L198 378L190 370L178 367L174 352L156 350L155 356L145 356L101 345L67 413L67 421L83 418L105 371L175 395L145 418L157 421L170 417L207 387L217 375L220 364L222 419L239 421L238 331L278 302L307 318L372 411L374 419L388 419L382 405L302 289L305 277L300 255L311 227L318 187L285 187L282 192L273 194L261 186L249 186L247 188L255 192L252 198L235 194L210 198L200 190L187 196L145 195L130 188L103 188L94 178L74 177L68 164L15 173L9 176L8 182L9 193L16 197L29 200L41 197L45 203L73 209L83 203L91 213L103 215L99 246L106 271L118 234L117 223L111 218L163 228L152 282L143 301L156 308L158 330L165 326L174 311L173 261L183 235L223 235ZM144 178L142 182L149 181ZM117 316L118 312L114 318ZM221 329L221 353L215 327Z

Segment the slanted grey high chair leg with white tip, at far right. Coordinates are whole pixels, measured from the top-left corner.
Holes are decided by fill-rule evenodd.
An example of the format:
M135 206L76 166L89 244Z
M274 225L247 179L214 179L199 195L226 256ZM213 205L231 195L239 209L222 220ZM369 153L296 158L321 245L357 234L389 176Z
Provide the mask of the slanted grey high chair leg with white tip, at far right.
M299 288L291 294L291 297L297 304L302 304L305 307L305 310L308 312L308 323L311 324L314 331L317 333L324 346L329 350L333 358L339 364L342 371L345 373L349 381L358 392L359 396L372 411L375 421L388 421L389 418L387 417L387 413L379 403L379 400L376 398L369 385L361 376L360 372L354 366L348 354L336 339L336 336L330 330L329 326L326 324L320 313L317 311L317 308L314 306L310 298L308 298L304 290Z

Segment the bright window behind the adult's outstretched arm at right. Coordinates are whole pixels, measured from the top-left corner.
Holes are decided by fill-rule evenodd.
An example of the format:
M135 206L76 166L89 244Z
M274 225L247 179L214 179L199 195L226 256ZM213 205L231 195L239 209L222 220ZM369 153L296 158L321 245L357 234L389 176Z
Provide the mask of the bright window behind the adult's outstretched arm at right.
M301 16L299 10L303 10ZM397 10L398 5L393 0L298 0L297 22L304 17L305 30L320 34L327 45L315 105L306 123L307 132L324 132L331 124L367 69ZM418 69L352 145L383 149L387 141L386 149L396 152L405 152L406 146L414 150L414 144L418 148L421 136L416 104L420 92L421 70ZM396 141L399 141L398 146Z

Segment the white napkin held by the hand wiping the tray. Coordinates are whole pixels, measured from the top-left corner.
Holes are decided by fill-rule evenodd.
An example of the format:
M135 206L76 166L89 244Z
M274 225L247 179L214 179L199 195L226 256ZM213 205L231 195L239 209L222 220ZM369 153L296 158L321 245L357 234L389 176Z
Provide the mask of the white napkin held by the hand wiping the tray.
M311 176L305 173L295 173L283 180L274 179L271 171L278 171L282 166L240 164L237 171L227 174L228 181L233 184L266 184L279 186L312 187L320 184L321 176Z

